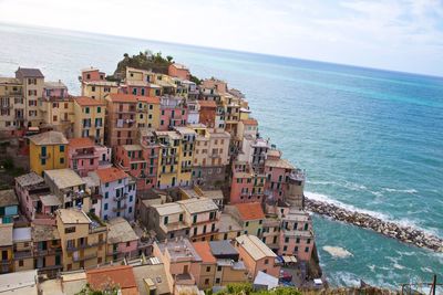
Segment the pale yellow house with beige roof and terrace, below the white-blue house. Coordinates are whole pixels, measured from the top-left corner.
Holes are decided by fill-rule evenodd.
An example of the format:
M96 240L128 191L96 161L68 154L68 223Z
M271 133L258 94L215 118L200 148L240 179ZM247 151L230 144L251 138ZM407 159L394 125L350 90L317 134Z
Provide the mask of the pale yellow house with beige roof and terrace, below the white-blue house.
M107 226L95 215L79 209L59 209L56 226L63 251L63 271L105 263Z

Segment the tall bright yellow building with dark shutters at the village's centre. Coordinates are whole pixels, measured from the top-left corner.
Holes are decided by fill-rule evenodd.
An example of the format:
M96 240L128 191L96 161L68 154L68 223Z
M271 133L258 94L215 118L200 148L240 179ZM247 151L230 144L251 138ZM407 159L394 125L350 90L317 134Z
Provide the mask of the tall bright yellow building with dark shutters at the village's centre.
M155 131L161 145L157 188L188 187L196 133L187 127L173 131Z

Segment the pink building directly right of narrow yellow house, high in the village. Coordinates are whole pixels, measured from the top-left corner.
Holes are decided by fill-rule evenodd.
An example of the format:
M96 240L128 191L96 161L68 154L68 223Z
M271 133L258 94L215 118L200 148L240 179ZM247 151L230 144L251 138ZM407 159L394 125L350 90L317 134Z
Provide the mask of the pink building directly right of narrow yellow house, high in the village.
M165 131L173 127L186 126L187 115L183 97L162 97L158 130Z

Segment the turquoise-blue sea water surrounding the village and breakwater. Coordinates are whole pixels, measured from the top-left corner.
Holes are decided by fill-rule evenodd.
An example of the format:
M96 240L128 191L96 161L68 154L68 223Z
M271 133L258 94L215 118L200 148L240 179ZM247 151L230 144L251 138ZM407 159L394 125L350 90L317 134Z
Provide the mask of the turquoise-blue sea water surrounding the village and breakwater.
M0 24L0 75L40 67L78 94L80 70L115 70L123 53L173 55L199 77L241 89L284 156L308 172L307 196L443 236L443 78L136 39ZM333 285L443 280L443 255L315 217ZM322 246L352 253L333 257Z

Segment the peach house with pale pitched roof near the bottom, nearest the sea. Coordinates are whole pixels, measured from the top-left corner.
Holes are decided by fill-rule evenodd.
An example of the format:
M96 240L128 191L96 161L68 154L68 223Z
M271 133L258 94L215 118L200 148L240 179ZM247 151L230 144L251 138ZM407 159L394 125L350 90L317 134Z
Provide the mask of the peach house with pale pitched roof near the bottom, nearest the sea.
M280 265L276 262L277 254L256 235L244 234L237 236L235 247L246 268L254 277L258 272L267 273L274 277L280 276Z

